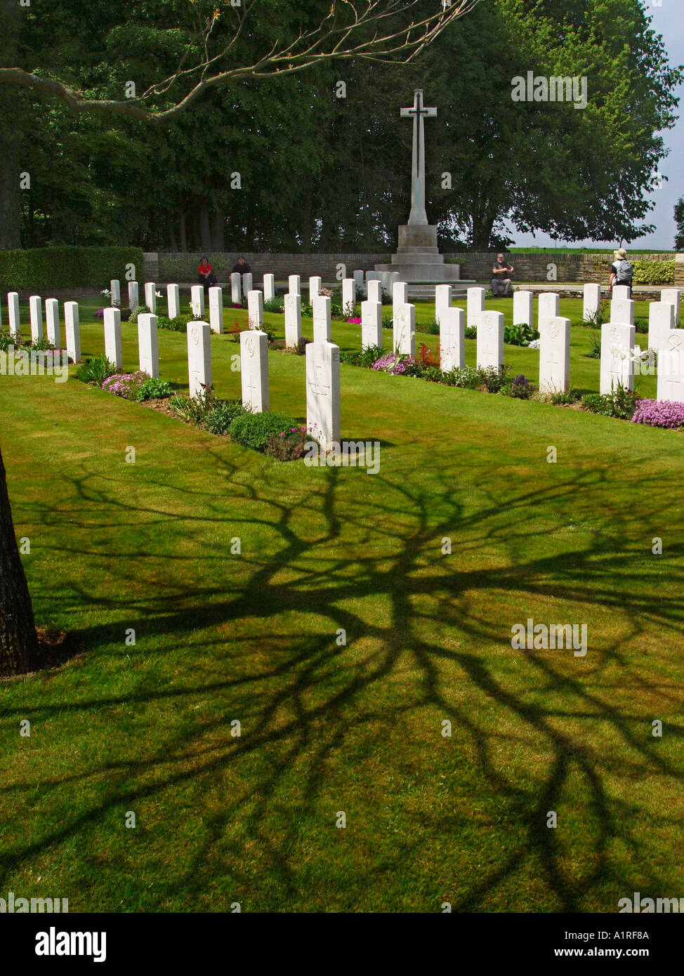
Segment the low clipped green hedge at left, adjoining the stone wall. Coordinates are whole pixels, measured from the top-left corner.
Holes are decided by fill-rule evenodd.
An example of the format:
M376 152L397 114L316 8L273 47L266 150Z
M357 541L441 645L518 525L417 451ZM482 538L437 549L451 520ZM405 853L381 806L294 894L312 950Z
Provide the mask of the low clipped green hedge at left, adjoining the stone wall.
M135 264L135 278L144 280L144 259L139 247L45 247L0 251L0 291L52 288L108 288L121 281L125 295L126 265ZM130 279L129 279L130 280Z

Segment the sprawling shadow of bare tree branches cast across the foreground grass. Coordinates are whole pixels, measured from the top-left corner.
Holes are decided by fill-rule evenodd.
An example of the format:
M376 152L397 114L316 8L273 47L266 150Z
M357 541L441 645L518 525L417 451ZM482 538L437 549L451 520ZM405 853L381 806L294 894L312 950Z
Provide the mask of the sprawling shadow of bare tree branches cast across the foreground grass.
M631 869L616 860L616 846L643 862L642 876L648 876L653 891L663 892L663 875L655 860L644 860L644 840L633 826L643 817L643 804L620 795L615 779L657 778L672 790L680 783L681 770L650 736L654 717L676 713L681 703L678 688L649 667L652 658L639 662L633 652L624 650L627 642L633 645L636 637L647 637L649 627L670 633L673 649L683 646L679 593L670 595L660 587L656 563L644 561L635 568L633 551L623 548L620 526L614 527L612 536L596 532L592 540L574 543L560 561L557 555L535 555L530 545L531 537L551 536L557 530L538 524L540 510L560 511L568 498L608 490L602 470L583 469L552 484L511 489L504 512L502 499L483 487L477 510L467 513L451 471L431 469L429 491L376 475L374 488L380 493L374 499L382 497L382 510L374 510L369 524L365 510L345 505L341 498L344 479L351 473L343 468L326 469L312 487L302 485L293 504L257 481L245 483L239 468L219 448L210 453L235 495L258 505L239 513L226 510L212 484L194 483L189 490L183 487L183 505L175 507L168 503L169 495L174 501L181 489L162 481L149 482L150 501L141 505L129 502L115 482L108 484L99 476L96 483L94 472L74 479L74 514L79 508L105 511L102 526L114 534L117 525L135 518L141 544L135 552L122 549L114 563L120 596L103 600L91 595L81 582L83 574L76 571L72 590L77 605L108 609L117 618L75 634L83 647L120 644L125 611L125 627L141 635L168 635L175 644L187 642L192 647L195 635L201 634L200 660L203 668L211 665L211 673L185 673L173 687L150 688L142 682L121 695L93 693L86 687L76 698L27 702L5 714L33 721L64 713L85 719L89 712L117 707L141 714L148 708L173 707L190 714L193 703L211 696L220 717L209 727L187 724L170 732L161 746L142 749L141 755L83 762L81 768L60 775L41 774L41 790L54 792L58 805L60 790L68 783L85 786L104 777L107 786L100 799L69 809L57 824L42 822L30 839L6 848L0 856L3 880L47 850L99 825L112 809L129 809L145 799L173 808L176 794L188 784L201 794L208 782L226 773L242 783L242 770L254 763L258 768L249 778L249 789L243 786L225 795L220 805L206 812L203 835L191 856L184 858L181 878L158 881L160 907L179 884L188 898L193 893L201 897L208 875L219 872L221 864L238 889L249 890L255 883L251 863L257 859L260 876L270 878L284 909L310 909L316 896L310 890L302 892L298 866L305 843L302 823L320 815L340 757L358 750L360 742L366 742L372 753L378 742L371 730L392 734L427 710L435 727L443 719L452 722L453 739L463 750L460 762L465 755L474 757L471 771L457 766L456 785L471 798L481 797L487 816L500 810L515 825L496 863L479 876L461 876L456 886L447 877L433 879L437 887L441 880L454 892L455 910L486 910L500 886L509 888L518 873L535 870L554 910L583 911L587 898L600 899L597 892L607 881L619 882L624 892L632 890ZM166 504L155 504L156 497ZM47 512L46 517L49 524ZM216 547L207 551L188 546L193 533L208 524L213 526ZM92 529L91 518L88 525ZM248 537L255 530L267 530L274 545L268 551L243 552L239 578L222 577L224 540ZM445 537L452 538L452 555L441 553ZM77 559L95 560L100 555L97 545L71 553L60 545L60 553L74 560L75 570ZM670 559L681 560L683 555L681 544L669 547ZM132 581L144 579L144 569L159 563L169 570L163 592L148 585L137 601L132 600ZM174 574L195 564L201 564L204 578L188 593L184 584L174 585ZM657 600L654 592L659 593ZM492 606L502 593L511 619L493 616ZM375 601L379 613L364 611L368 600ZM571 613L573 621L583 622L588 604L594 617L619 615L622 627L600 632L593 644L590 635L590 657L584 661L569 651L514 651L511 626L526 616L556 622L556 617L547 620L545 608L552 602L563 607L558 623L567 622ZM513 614L510 606L524 610ZM544 608L541 617L538 607ZM297 615L302 621L299 630L281 630L283 615ZM307 621L314 623L310 631ZM338 629L345 630L346 649L335 646ZM226 652L235 640L239 656ZM359 640L370 648L365 657L352 653ZM144 670L143 647L138 655ZM516 676L513 661L521 676ZM84 666L87 663L78 667ZM217 677L223 667L228 673ZM611 668L624 670L631 683L632 696L626 701L613 699L614 686L607 676ZM238 712L245 732L236 739L230 721ZM670 737L682 737L681 726L667 724ZM440 743L438 731L430 736L429 743ZM510 756L515 743L542 753L538 765L525 769L524 764L503 761L502 753ZM402 763L411 761L411 754L383 753L384 768L401 776ZM440 758L436 750L423 749L422 762L426 777L439 768ZM297 789L287 793L293 775ZM28 795L33 789L29 766L15 784L0 788L0 795ZM369 781L372 805L382 805L379 789ZM394 794L404 803L401 789ZM546 826L548 811L567 809L573 797L585 821L583 837L575 838L571 850L577 858L569 856L570 841L562 832ZM408 808L403 816L410 821ZM405 841L410 863L420 857L422 844L436 842L435 818L428 805L424 833L419 830ZM660 827L672 830L678 821L675 810L664 810ZM400 872L402 865L378 844L376 857L387 870ZM374 876L382 886L382 873ZM272 910L272 896L269 907ZM438 911L438 906L418 907ZM606 907L615 908L614 903Z

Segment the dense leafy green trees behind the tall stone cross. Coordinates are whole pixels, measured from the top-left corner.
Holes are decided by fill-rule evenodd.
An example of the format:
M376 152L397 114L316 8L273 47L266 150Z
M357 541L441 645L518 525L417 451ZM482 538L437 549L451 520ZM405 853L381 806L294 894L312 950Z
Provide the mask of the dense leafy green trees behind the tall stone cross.
M52 79L78 104L0 69L0 245L391 249L410 192L399 107L415 87L438 106L426 123L427 211L443 243L499 246L504 221L567 240L651 228L646 194L682 73L640 0L419 7L7 5L0 63ZM364 10L386 20L352 24ZM337 52L326 23L344 36ZM263 61L284 50L291 61ZM528 72L585 79L586 106L513 101L511 80Z

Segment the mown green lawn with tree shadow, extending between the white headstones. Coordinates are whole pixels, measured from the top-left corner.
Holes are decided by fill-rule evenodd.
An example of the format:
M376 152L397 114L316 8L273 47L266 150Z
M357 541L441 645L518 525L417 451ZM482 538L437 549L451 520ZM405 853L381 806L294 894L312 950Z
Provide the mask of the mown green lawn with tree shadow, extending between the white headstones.
M573 329L572 385L596 390L589 345ZM212 339L220 396L238 349ZM185 336L160 332L160 355L186 388ZM536 380L538 353L506 361ZM269 370L271 408L303 420L303 359L273 350ZM0 685L0 897L616 912L681 894L681 434L346 365L342 435L381 442L377 475L278 464L75 379L0 377L0 416L36 618L80 647ZM585 657L513 650L528 618L585 624Z

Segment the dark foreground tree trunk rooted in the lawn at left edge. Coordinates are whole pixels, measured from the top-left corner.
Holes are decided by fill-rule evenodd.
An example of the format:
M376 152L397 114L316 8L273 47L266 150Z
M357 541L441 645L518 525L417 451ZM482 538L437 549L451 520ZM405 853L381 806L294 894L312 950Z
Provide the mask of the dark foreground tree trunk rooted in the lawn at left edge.
M38 639L0 452L0 674L39 667Z

